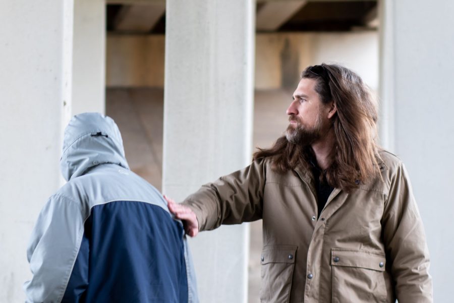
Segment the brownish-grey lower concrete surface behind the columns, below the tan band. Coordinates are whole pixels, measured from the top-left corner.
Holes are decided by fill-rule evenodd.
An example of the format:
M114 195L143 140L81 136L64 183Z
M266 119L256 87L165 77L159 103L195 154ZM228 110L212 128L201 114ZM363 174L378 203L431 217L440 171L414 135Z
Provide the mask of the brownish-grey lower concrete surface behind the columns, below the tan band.
M291 95L292 90L283 89L255 92L254 147L270 146L286 129L286 109ZM161 88L106 90L106 114L116 121L122 132L129 166L159 190L162 177L163 98ZM248 301L255 303L260 301L262 221L252 222L250 226Z

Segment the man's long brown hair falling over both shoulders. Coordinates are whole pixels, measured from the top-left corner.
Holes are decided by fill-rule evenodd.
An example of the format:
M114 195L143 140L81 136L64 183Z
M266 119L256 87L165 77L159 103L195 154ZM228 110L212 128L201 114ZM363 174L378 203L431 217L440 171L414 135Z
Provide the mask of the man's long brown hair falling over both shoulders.
M337 107L331 118L335 143L332 164L325 171L329 185L349 191L381 176L376 122L377 104L363 80L346 67L321 64L307 67L301 78L315 79L321 102ZM272 169L284 173L295 167L309 169L310 146L277 139L271 148L258 148L253 159L271 157Z

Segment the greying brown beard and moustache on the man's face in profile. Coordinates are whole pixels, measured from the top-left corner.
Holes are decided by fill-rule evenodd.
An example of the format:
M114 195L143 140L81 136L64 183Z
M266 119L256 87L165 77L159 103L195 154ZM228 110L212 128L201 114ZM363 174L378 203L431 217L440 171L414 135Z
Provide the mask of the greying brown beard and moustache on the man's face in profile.
M317 115L312 127L303 125L301 119L295 115L289 117L289 121L296 121L296 125L289 125L285 132L287 141L290 143L308 146L322 137L321 116Z

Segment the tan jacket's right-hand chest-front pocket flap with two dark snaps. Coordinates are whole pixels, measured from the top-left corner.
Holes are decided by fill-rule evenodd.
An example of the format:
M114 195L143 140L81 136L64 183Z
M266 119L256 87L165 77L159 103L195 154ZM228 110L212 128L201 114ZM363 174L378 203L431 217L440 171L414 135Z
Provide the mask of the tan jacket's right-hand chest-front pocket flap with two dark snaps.
M380 252L333 248L331 249L331 265L384 271L386 257Z

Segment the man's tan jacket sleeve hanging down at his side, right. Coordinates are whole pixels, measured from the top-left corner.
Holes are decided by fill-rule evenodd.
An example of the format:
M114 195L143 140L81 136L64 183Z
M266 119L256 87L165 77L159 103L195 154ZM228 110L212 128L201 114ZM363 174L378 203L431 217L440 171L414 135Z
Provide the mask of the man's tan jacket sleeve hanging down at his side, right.
M429 251L407 171L391 178L382 219L386 255L399 303L432 302Z

